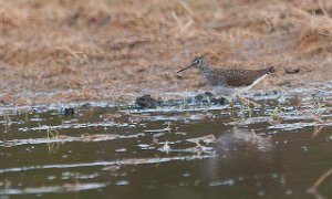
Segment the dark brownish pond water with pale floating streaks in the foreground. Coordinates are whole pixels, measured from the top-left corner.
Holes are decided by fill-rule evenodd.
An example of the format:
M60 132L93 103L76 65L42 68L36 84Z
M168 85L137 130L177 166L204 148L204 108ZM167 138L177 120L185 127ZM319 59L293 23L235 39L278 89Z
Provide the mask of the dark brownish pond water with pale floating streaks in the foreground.
M331 92L250 98L2 107L0 198L332 198Z

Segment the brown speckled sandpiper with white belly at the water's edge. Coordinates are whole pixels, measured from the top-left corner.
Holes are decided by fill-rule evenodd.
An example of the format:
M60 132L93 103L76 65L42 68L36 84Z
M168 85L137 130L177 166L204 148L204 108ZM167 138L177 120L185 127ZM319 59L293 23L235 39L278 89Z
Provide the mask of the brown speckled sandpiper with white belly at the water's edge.
M212 91L229 101L231 105L236 96L247 92L274 72L273 66L261 70L210 69L207 57L196 56L187 67L177 73L190 67L198 67Z

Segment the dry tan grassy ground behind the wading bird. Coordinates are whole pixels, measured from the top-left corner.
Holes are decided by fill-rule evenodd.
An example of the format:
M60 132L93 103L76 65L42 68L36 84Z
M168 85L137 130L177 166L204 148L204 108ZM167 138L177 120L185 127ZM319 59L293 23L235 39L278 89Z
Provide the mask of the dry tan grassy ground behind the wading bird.
M273 65L256 88L312 86L332 77L331 17L330 0L0 0L0 103L204 90L198 71L176 73L200 54Z

